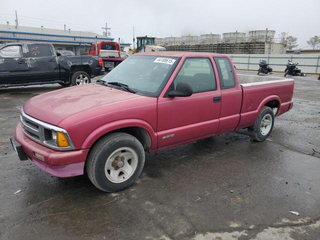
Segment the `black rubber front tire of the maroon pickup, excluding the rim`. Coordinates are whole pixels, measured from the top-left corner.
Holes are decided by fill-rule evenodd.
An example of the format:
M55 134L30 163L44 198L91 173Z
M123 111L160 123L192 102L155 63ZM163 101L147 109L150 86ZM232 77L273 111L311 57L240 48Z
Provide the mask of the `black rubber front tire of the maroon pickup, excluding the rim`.
M104 170L106 161L114 151L121 147L128 147L136 153L136 168L132 171L133 173L128 176L126 180L122 182L112 182L106 176L108 172L105 173ZM91 147L86 159L86 172L91 182L97 188L102 191L114 192L127 188L128 186L133 184L134 181L139 177L143 165L144 150L139 140L130 134L124 132L115 132L102 137ZM119 167L118 169L120 171L121 167Z

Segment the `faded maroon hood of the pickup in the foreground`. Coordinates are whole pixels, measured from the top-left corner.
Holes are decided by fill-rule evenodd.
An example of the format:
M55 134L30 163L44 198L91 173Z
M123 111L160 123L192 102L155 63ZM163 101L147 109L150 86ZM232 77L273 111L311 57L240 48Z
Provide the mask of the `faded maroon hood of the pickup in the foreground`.
M104 85L84 84L34 96L22 108L36 119L58 125L64 118L80 111L137 97L141 96Z

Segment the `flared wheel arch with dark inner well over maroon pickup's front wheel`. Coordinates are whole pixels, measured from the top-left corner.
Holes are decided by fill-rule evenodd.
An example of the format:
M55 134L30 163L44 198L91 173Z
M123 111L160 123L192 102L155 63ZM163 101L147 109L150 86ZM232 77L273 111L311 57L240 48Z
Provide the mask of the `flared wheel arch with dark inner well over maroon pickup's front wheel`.
M125 132L136 137L145 151L155 151L157 134L152 126L140 119L124 119L106 123L93 130L83 141L81 148L90 148L101 137L112 132Z

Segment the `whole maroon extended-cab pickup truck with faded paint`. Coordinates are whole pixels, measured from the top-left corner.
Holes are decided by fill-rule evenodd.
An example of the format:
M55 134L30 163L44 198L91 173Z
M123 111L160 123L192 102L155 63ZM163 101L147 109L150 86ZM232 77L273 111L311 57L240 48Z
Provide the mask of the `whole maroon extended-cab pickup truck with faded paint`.
M137 53L97 83L28 99L11 142L20 160L52 175L86 171L99 189L118 191L138 178L145 151L240 128L265 140L291 109L293 85L237 75L226 55Z

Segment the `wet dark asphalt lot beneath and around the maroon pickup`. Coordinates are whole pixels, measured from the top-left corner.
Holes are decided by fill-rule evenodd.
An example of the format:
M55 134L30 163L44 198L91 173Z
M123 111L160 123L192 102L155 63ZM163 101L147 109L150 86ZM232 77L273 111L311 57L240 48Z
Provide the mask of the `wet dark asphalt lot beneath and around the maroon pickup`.
M116 193L13 151L19 107L60 85L0 89L0 239L320 239L320 81L294 78L293 109L266 141L240 130L146 154Z

